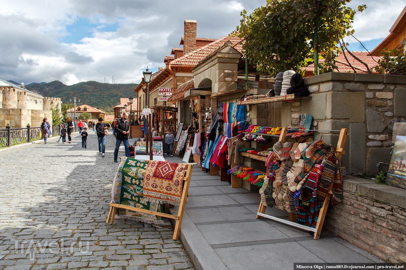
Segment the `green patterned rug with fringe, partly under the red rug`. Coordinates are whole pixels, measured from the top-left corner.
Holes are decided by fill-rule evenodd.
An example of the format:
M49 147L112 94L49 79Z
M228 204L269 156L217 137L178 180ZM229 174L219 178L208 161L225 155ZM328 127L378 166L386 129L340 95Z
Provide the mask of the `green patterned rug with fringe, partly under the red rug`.
M160 204L150 203L144 200L143 179L147 165L148 162L146 161L139 161L132 158L121 159L112 187L112 201L114 203L162 212ZM126 209L117 209L117 215L122 218L146 223L163 224L162 217Z

